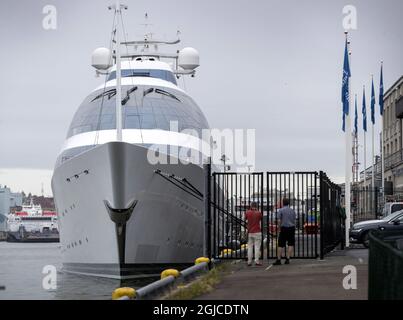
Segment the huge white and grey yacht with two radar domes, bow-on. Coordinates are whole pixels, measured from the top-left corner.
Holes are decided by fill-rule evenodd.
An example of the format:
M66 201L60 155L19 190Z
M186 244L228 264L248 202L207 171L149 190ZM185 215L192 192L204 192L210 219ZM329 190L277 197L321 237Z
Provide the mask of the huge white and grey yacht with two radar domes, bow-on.
M112 46L92 57L105 81L74 115L52 190L63 270L126 279L181 268L203 254L203 141L183 131L201 137L209 126L177 84L195 74L197 51L161 53L160 47L179 39L150 35L121 41L126 8L117 3L110 9L116 21ZM152 154L166 161L155 162Z

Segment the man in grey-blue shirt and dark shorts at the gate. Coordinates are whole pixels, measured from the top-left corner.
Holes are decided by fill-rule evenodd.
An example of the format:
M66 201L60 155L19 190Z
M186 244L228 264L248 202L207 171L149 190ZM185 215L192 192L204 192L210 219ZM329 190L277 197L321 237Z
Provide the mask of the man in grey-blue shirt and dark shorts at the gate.
M277 261L274 265L281 265L281 256L283 252L285 254L285 247L287 244L288 251L285 264L289 264L295 245L296 214L295 211L290 208L290 201L288 199L283 199L283 207L278 211L278 219L280 236L278 238Z

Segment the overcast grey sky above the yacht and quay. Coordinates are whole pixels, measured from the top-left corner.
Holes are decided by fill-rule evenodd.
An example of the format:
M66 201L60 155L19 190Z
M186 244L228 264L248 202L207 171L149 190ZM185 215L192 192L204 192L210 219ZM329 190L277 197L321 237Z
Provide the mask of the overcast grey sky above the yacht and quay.
M40 193L44 182L45 193L51 193L53 165L73 114L102 82L94 77L90 57L93 49L108 46L111 2L0 2L0 184ZM56 30L42 27L47 4L57 8ZM169 39L179 29L180 46L200 52L201 66L196 78L186 79L186 90L211 127L256 129L256 170L324 170L338 181L344 175L345 5L356 6L358 13L351 41L352 91L359 92L359 110L362 85L369 88L371 73L378 91L381 60L386 88L403 74L401 0L125 4L130 38L144 33L147 12L153 31ZM379 140L376 146L379 152Z

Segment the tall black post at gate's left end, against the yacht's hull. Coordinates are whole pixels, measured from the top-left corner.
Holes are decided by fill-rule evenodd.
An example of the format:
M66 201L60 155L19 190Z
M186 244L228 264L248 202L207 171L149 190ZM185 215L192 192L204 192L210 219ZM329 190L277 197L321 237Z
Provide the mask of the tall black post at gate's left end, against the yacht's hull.
M211 158L203 165L204 171L204 256L211 258Z

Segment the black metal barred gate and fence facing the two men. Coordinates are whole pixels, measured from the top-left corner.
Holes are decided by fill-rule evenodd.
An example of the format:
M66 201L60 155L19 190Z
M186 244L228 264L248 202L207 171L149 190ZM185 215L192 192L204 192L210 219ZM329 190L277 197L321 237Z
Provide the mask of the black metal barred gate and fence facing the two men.
M296 212L293 258L323 258L343 240L340 188L323 172L212 174L211 256L247 257L245 213L256 202L263 213L261 258L277 257L278 210L289 199Z

